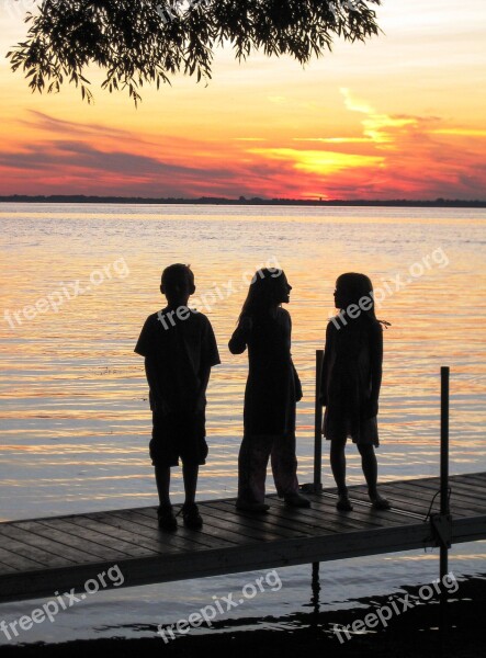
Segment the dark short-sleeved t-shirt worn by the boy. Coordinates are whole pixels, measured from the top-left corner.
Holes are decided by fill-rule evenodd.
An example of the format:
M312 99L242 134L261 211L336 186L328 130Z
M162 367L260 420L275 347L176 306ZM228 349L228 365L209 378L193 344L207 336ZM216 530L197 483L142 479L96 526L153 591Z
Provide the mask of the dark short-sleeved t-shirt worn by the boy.
M134 351L151 361L157 395L162 398L166 412L196 410L196 402L197 410L204 411L205 396L197 400L201 375L221 363L214 331L205 315L190 311L189 317L180 319L166 308L148 316ZM151 409L155 395L150 390Z

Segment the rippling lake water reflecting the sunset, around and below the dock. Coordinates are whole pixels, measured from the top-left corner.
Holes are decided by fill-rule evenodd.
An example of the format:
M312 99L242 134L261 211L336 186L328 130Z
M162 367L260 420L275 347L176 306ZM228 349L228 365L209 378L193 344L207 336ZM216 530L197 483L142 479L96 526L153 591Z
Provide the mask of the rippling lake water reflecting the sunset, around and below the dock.
M315 351L335 313L336 277L346 271L370 275L377 316L392 322L384 336L381 478L438 474L441 365L451 366L451 473L486 470L486 211L0 204L0 520L157 503L147 385L133 348L147 315L163 304L160 272L172 262L191 263L194 305L211 318L223 361L208 389L201 498L236 491L247 362L226 345L251 275L265 264L282 266L293 286L293 356L305 396L297 411L302 483L313 472ZM348 456L349 483L361 483L352 445ZM325 445L324 485L332 484ZM180 501L176 470L172 489ZM486 572L485 546L454 547L457 577ZM429 582L437 563L437 552L416 552L323 565L321 608ZM276 627L294 623L286 615L309 605L309 567L279 574L280 591L228 613L227 627L233 619L260 625L270 611ZM22 642L152 637L157 624L187 617L255 578L100 592ZM31 609L32 602L0 605L0 620Z

